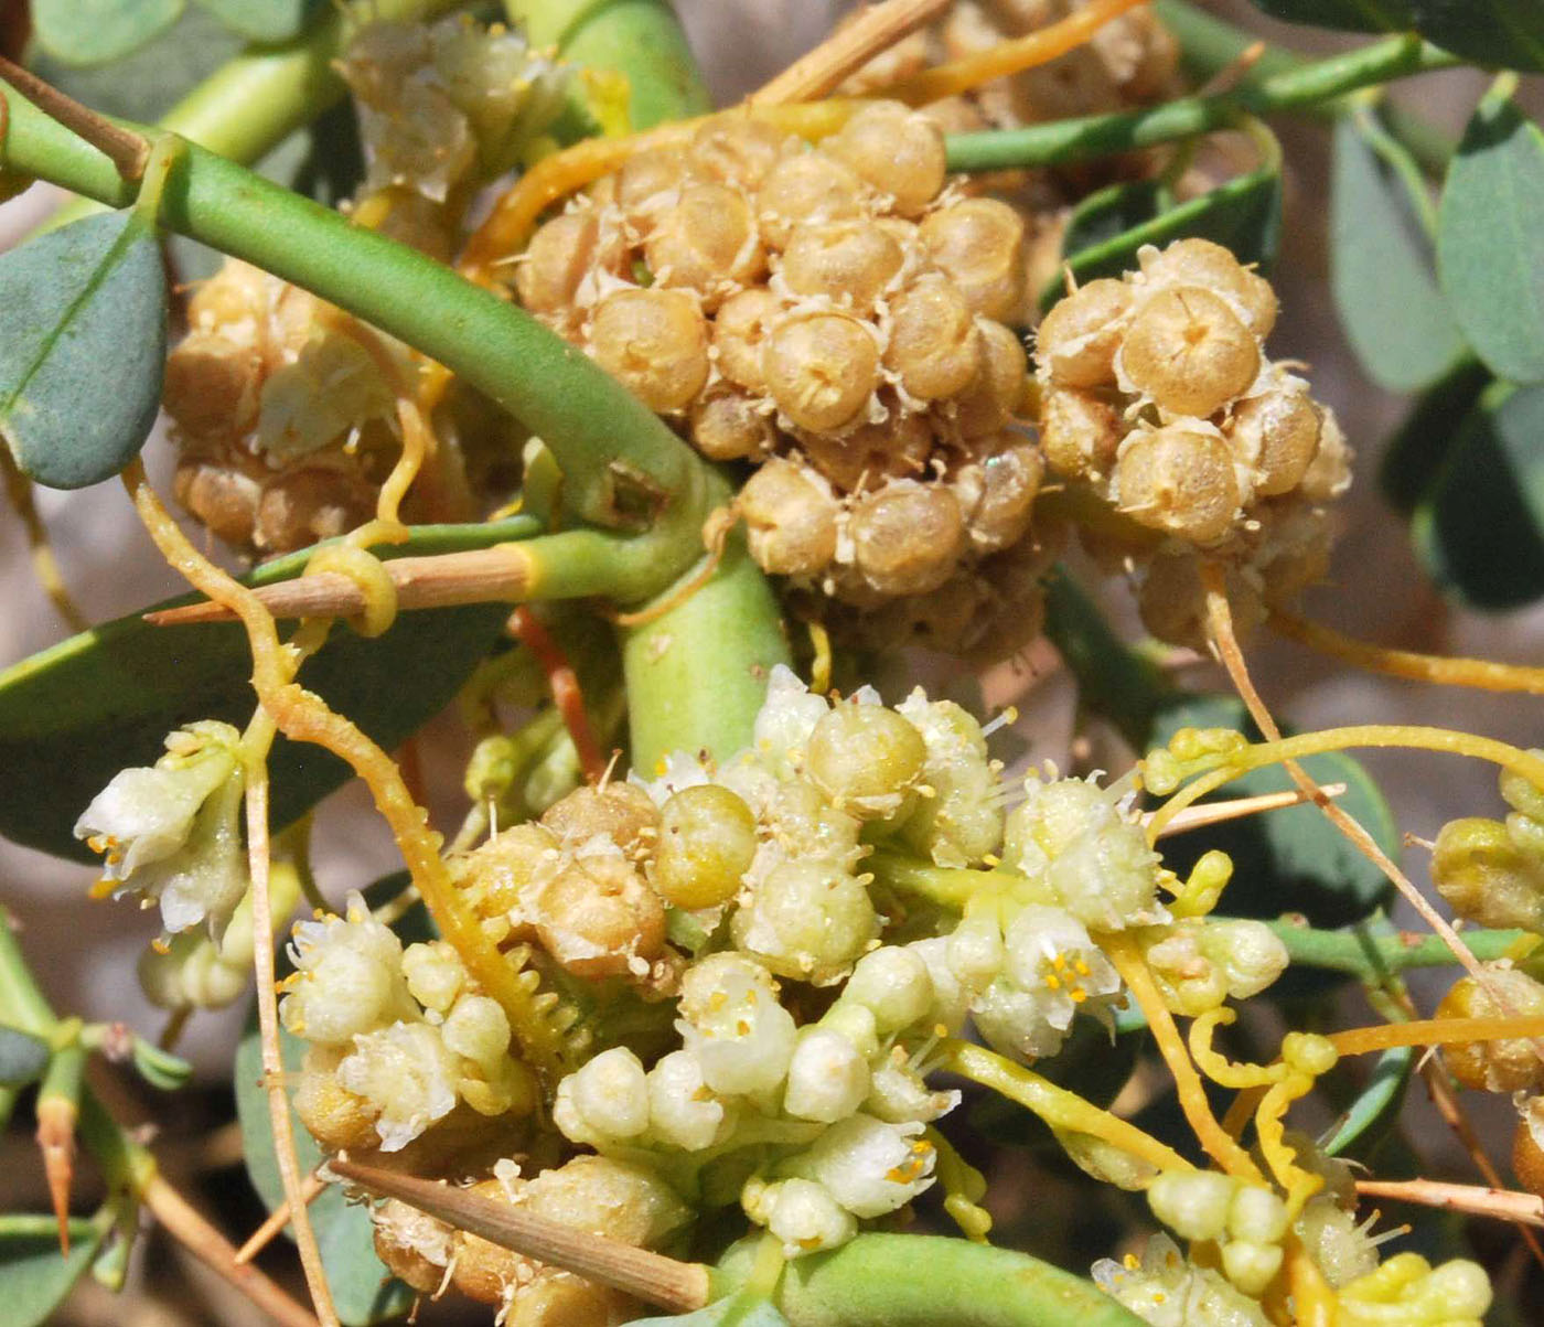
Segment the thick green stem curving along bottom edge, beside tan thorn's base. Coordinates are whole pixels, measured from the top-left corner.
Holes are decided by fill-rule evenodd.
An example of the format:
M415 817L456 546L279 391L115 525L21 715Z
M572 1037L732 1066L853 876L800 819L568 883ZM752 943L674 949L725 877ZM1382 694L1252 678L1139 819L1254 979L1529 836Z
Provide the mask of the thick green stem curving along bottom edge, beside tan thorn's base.
M721 1264L740 1284L755 1240ZM933 1234L860 1234L795 1259L777 1307L789 1327L1141 1327L1089 1281L1025 1253Z

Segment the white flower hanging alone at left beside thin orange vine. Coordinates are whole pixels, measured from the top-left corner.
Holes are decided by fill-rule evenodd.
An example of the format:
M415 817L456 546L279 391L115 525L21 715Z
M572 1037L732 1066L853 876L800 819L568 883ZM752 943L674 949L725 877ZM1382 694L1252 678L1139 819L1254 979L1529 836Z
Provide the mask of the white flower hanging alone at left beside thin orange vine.
M161 902L168 932L224 932L247 891L241 847L241 734L205 720L179 728L153 766L113 777L76 822L103 874Z

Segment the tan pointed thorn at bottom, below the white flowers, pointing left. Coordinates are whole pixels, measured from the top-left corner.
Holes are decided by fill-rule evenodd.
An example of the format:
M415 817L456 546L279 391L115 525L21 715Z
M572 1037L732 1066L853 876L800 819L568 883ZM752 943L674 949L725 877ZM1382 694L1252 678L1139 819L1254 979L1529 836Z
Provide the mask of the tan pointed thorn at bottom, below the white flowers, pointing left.
M332 1160L327 1169L378 1197L394 1197L500 1248L599 1281L672 1313L701 1308L712 1293L709 1271L698 1262L679 1262L443 1182L347 1160Z

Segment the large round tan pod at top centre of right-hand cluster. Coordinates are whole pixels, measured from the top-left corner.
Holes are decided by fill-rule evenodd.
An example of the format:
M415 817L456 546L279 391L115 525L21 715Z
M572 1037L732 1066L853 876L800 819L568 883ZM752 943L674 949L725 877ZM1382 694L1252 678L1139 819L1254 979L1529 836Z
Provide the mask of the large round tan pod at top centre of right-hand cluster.
M1177 286L1136 311L1119 368L1161 409L1206 417L1254 382L1260 344L1221 297Z

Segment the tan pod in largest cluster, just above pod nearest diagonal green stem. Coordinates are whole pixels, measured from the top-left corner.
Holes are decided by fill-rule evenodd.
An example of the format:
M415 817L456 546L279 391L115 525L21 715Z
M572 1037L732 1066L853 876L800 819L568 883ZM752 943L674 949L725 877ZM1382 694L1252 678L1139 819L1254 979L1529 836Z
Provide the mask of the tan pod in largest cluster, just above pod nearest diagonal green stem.
M766 270L750 204L723 184L689 184L681 201L659 213L644 244L656 284L684 286L712 309L732 286L747 286Z

